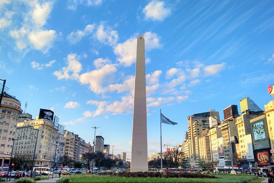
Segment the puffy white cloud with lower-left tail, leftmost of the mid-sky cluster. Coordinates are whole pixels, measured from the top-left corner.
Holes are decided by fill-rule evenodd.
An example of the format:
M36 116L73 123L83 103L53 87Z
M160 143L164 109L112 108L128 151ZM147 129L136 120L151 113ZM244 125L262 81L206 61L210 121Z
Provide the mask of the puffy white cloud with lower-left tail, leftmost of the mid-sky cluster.
M60 79L78 79L79 72L82 70L81 63L76 59L77 54L69 54L67 56L67 67L63 67L62 70L54 71L53 74L57 77L58 80ZM70 76L69 73L72 72Z

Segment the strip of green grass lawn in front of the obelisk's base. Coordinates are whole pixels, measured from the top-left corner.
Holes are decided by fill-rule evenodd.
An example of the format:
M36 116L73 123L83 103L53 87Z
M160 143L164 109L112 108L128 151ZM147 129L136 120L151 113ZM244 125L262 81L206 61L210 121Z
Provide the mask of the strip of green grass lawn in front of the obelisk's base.
M212 178L125 178L116 176L99 176L72 174L57 180L56 182L261 182L256 175L245 174L217 174L215 179Z

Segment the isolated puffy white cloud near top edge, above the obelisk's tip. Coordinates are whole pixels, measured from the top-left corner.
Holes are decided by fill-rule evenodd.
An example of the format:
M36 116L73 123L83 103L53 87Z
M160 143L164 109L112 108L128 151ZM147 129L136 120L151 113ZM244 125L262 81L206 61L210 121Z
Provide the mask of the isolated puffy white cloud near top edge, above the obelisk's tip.
M146 5L143 9L143 13L145 13L146 19L163 21L164 18L170 15L171 11L170 8L164 7L163 1L153 0Z

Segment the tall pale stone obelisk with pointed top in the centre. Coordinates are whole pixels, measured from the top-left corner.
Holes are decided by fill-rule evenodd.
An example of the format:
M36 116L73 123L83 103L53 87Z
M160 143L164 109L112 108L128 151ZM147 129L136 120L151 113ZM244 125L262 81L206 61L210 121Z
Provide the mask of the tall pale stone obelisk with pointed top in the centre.
M137 39L130 171L147 171L145 39Z

